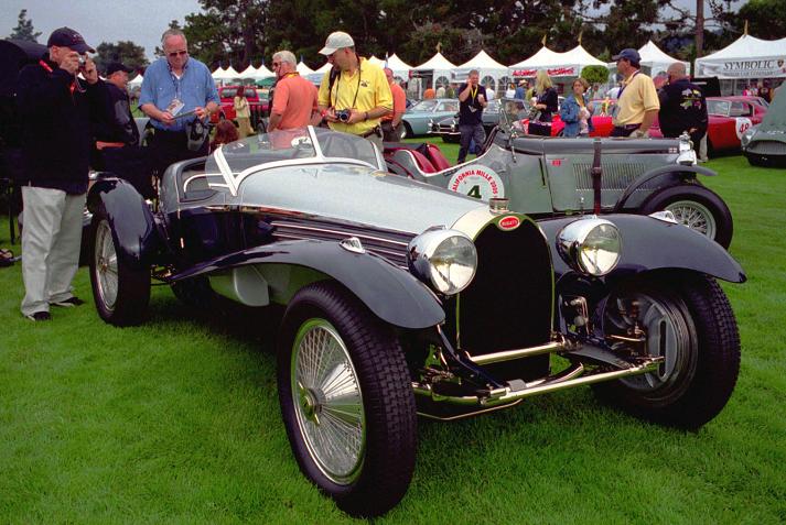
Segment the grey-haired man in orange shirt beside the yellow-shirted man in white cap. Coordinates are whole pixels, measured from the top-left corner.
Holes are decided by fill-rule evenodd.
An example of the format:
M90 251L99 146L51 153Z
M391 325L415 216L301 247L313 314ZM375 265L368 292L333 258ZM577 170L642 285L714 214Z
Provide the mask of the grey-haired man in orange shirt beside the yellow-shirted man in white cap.
M316 108L316 87L298 74L297 65L297 58L290 51L279 51L273 55L273 72L278 80L268 133L316 125L322 120Z

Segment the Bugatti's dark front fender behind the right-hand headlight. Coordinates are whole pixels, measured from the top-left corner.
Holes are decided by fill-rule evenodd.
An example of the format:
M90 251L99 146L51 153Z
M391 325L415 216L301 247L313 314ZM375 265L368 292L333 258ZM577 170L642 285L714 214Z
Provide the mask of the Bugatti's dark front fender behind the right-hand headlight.
M732 283L744 283L745 272L723 247L690 228L647 216L604 215L620 229L622 255L606 281L625 278L653 270L692 270ZM554 264L554 277L573 272L557 251L560 230L577 218L545 219L538 225L546 233Z

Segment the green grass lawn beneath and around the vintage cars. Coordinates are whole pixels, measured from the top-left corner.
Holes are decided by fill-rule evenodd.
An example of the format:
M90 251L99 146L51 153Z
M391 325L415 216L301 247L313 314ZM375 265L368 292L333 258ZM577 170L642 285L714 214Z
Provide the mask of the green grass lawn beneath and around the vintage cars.
M709 167L749 275L724 285L743 348L720 416L683 433L578 389L421 419L412 485L379 523L786 522L786 173L739 156ZM34 325L20 265L0 269L0 523L352 521L290 452L269 326L195 317L155 287L148 324L112 328L85 269L75 284L88 304Z

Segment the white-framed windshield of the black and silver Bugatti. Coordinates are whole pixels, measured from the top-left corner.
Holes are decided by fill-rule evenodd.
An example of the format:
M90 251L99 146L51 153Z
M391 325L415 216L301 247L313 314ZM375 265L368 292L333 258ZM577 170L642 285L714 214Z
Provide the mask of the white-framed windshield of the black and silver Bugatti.
M276 130L224 144L205 163L207 173L220 173L236 193L243 178L266 165L321 164L351 160L384 169L377 149L360 136L324 128Z

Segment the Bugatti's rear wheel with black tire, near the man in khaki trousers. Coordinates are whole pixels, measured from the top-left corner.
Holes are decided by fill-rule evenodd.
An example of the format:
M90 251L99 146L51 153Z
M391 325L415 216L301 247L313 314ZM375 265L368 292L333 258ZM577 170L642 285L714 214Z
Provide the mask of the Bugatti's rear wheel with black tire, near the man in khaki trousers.
M150 270L126 264L117 256L117 247L115 229L101 204L90 225L90 284L96 309L111 325L139 325L150 303Z

